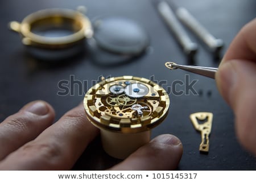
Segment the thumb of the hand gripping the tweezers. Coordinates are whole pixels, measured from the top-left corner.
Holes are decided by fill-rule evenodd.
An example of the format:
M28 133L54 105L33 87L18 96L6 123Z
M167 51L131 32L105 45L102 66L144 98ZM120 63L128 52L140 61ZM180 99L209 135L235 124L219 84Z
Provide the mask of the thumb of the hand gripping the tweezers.
M256 155L256 64L247 60L226 61L218 69L216 82L236 115L238 139Z

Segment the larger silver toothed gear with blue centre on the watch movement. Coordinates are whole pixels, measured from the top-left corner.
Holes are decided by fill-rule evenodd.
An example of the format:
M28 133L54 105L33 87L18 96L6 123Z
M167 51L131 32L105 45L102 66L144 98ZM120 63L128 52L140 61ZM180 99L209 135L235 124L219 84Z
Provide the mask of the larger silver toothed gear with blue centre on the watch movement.
M142 98L148 93L148 88L146 85L141 83L133 83L127 85L125 88L125 94L132 98Z

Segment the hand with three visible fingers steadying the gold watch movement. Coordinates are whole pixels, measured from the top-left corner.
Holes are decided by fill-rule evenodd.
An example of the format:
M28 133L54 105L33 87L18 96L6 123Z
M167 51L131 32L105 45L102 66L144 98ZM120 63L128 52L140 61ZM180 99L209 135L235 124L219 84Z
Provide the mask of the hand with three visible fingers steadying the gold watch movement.
M0 123L0 169L65 170L98 134L79 105L52 125L53 108L44 101L30 102ZM173 135L160 135L142 146L113 170L176 169L182 144Z

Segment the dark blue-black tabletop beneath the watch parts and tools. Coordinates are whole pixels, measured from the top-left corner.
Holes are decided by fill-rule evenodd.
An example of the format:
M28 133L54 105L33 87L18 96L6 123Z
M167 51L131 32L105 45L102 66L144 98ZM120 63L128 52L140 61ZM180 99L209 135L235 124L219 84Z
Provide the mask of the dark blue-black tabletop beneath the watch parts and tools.
M177 5L186 7L208 30L225 42L226 48L240 28L256 15L256 1L251 0L197 0L174 1ZM21 21L24 16L51 7L76 9L78 5L88 8L88 17L123 16L141 24L150 36L150 48L146 53L130 63L112 67L95 64L89 52L76 56L61 64L49 64L39 61L27 54L20 42L20 37L7 28L11 20ZM99 76L133 75L155 80L167 81L165 89L170 89L175 80L198 80L195 89L197 95L189 93L181 96L170 94L171 106L166 120L152 130L152 137L170 133L181 139L184 146L183 158L179 164L180 170L255 170L256 160L238 143L234 132L234 114L222 99L214 80L184 71L169 71L164 63L176 60L180 64L188 64L174 36L168 31L159 14L150 1L1 1L1 66L0 66L0 120L15 113L29 101L46 100L56 110L56 121L66 111L83 100L84 92L92 81ZM217 67L219 61L188 31L192 40L199 43L199 52L195 64ZM73 94L58 96L57 84L61 80L69 80L71 75L76 80L88 80L84 90L79 93L75 86ZM177 89L184 90L184 86ZM189 114L209 111L214 114L212 133L210 134L209 154L200 154L200 133L197 133L189 120ZM172 155L172 154L170 154ZM119 162L110 158L102 150L100 138L96 138L82 154L73 169L106 169Z

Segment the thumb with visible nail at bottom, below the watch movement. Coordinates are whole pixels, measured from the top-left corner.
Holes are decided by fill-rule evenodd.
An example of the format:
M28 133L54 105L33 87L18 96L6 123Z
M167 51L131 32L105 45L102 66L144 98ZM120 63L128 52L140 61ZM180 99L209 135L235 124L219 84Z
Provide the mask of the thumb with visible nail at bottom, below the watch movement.
M174 170L183 153L180 140L174 135L163 134L145 144L123 162L110 170Z

